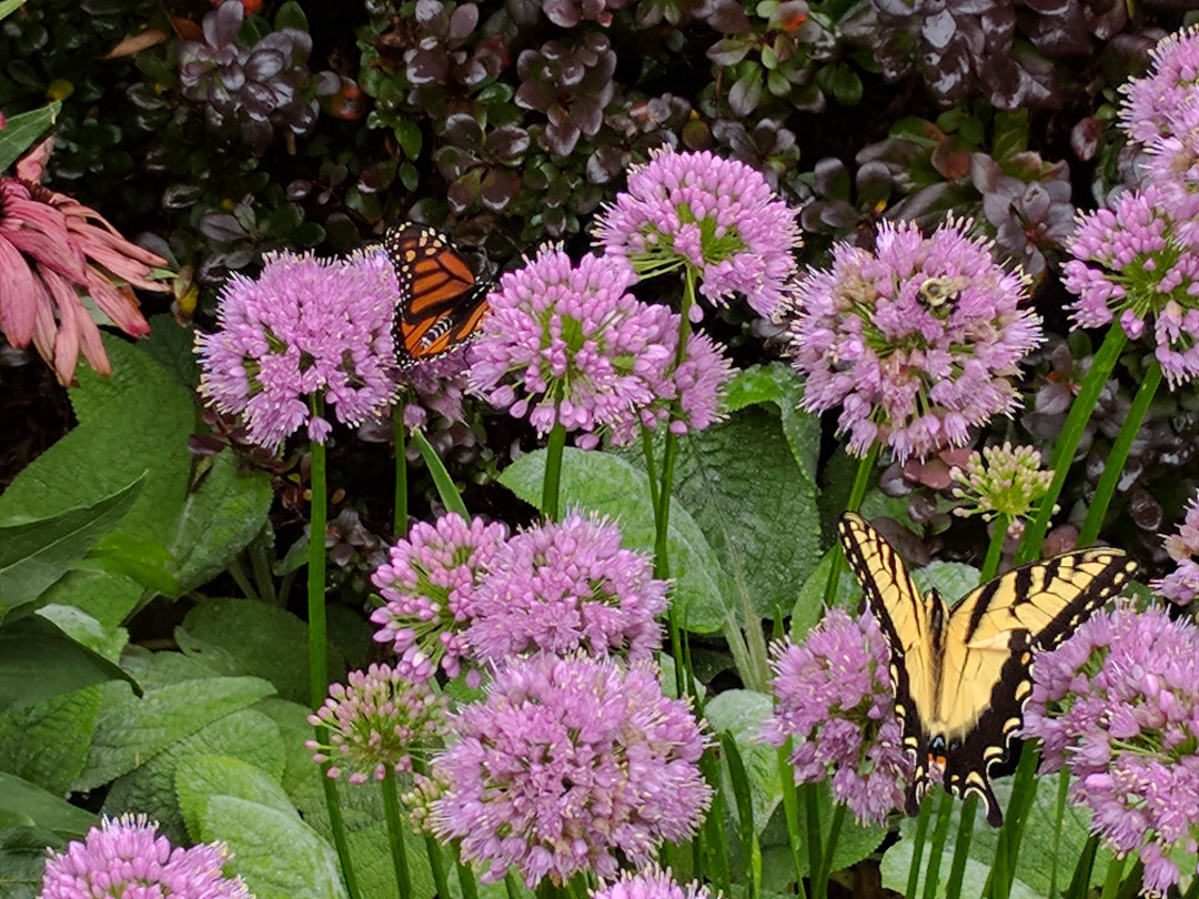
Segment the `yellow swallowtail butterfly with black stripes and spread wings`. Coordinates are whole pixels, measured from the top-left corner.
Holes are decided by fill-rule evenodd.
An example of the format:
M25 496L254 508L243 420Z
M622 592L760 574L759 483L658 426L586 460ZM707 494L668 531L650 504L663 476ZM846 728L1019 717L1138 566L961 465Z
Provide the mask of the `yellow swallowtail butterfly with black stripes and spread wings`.
M952 608L922 595L894 549L861 517L838 524L845 556L891 648L903 744L915 760L906 810L916 814L929 767L947 792L1002 811L990 774L1012 758L1037 652L1053 648L1120 592L1135 566L1114 549L1067 553L1014 568Z

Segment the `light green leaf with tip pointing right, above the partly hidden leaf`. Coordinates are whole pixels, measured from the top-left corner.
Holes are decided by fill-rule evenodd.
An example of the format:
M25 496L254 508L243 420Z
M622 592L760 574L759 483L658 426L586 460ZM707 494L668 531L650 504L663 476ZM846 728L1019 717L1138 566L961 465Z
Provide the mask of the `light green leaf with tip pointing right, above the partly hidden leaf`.
M115 690L114 690L115 693ZM275 688L259 677L210 677L106 699L96 717L88 765L76 790L92 790L144 765L215 720L239 712Z

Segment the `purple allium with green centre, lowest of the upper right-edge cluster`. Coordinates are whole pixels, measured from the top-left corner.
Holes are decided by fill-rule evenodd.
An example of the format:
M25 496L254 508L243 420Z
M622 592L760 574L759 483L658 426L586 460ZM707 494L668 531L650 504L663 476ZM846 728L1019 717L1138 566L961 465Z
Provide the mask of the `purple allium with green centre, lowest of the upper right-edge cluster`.
M1066 289L1074 320L1119 314L1133 340L1152 319L1155 355L1171 384L1199 375L1199 194L1161 185L1121 194L1115 210L1083 217L1071 241Z

